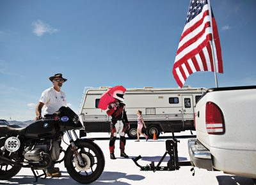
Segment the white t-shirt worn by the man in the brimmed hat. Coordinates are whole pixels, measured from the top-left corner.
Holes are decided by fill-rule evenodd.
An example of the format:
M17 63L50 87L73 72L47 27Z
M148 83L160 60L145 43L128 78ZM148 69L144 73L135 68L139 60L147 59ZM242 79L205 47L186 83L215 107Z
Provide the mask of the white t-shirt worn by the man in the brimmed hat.
M61 107L67 107L66 95L63 91L56 91L53 87L46 89L39 100L44 103L45 114L54 114Z

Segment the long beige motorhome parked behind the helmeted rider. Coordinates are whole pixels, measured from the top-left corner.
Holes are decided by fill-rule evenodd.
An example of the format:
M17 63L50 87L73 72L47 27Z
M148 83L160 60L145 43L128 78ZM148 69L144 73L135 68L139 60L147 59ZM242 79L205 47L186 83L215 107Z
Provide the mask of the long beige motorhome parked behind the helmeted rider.
M109 87L86 87L81 101L79 115L84 123L86 133L110 132L111 117L106 110L98 108L100 96ZM194 107L196 101L205 93L204 87L180 88L128 88L124 99L126 113L130 123L127 135L137 136L138 110L142 111L143 119L147 124L145 133L158 137L160 133L195 130Z

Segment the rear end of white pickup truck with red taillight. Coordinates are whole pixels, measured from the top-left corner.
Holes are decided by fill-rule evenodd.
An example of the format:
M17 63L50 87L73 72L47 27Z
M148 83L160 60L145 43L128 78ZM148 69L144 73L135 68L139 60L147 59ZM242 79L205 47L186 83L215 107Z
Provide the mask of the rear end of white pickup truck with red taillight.
M208 89L195 107L191 163L256 179L256 86Z

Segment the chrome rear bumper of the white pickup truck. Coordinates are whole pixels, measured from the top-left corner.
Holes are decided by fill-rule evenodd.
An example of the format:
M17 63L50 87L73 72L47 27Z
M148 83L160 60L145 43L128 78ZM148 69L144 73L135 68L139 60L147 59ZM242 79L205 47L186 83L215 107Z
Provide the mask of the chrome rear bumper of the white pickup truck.
M207 170L213 170L211 152L200 144L196 138L188 140L188 150L191 163L198 167Z

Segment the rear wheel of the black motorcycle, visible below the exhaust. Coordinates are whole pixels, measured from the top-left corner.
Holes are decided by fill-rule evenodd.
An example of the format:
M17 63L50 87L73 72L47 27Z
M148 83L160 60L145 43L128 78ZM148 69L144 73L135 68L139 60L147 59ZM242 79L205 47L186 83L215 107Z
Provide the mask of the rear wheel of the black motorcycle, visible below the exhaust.
M19 173L21 167L0 163L0 179L8 180Z

